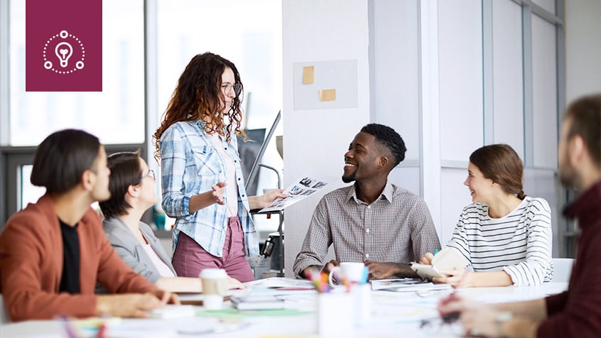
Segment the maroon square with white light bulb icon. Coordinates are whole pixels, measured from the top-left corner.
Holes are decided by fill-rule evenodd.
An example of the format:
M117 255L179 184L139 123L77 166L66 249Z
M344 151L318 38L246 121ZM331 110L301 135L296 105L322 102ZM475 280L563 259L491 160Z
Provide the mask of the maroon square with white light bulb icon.
M26 0L26 92L102 92L102 0Z

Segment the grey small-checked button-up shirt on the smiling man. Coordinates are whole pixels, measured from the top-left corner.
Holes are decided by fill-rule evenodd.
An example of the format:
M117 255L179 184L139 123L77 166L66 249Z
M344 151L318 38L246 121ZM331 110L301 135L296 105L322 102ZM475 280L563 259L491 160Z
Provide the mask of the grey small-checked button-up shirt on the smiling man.
M296 276L309 266L323 266L332 244L340 262L408 263L440 248L426 202L390 182L369 205L357 199L354 185L327 193L296 256Z

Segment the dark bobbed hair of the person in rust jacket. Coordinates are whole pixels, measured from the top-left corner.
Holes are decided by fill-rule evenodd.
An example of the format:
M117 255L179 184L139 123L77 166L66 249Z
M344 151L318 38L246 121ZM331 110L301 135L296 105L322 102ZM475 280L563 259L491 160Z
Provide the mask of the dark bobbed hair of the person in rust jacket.
M100 142L90 133L76 129L55 131L36 149L31 184L49 193L63 193L80 184L98 157Z

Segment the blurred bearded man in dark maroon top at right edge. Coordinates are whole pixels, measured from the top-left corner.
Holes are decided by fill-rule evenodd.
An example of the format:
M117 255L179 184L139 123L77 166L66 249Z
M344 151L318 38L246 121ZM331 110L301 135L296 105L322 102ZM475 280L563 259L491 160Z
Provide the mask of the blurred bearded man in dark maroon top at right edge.
M558 150L559 177L580 196L565 209L580 236L568 290L537 300L481 304L451 295L438 304L468 335L486 337L599 337L601 332L601 94L570 104Z

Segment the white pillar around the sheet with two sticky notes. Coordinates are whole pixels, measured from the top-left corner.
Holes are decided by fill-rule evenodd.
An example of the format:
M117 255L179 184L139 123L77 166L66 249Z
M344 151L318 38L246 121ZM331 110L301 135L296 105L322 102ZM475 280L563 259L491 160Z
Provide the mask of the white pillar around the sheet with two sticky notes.
M337 178L328 185L328 191L342 186L344 153L359 129L369 122L367 17L364 0L282 2L285 186L314 170ZM295 110L291 86L294 63L327 60L357 60L357 108ZM321 196L286 209L286 276L292 276L294 258Z

